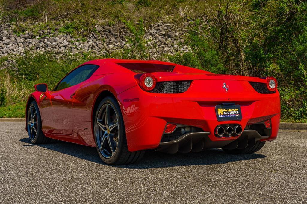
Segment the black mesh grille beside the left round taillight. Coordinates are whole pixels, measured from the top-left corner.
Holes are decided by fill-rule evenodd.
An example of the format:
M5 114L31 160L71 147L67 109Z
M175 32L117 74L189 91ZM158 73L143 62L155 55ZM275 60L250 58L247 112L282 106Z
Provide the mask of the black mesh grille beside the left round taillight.
M192 81L161 81L151 93L183 93L188 90Z

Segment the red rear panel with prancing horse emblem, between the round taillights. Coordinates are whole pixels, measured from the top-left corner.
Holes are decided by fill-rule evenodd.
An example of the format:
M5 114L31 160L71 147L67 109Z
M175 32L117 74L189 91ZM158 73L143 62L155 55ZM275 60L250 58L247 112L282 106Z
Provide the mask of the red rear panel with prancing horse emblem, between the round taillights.
M156 93L183 93L185 97L199 101L255 101L276 93L270 92L266 80L258 77L175 72L152 74L157 79Z

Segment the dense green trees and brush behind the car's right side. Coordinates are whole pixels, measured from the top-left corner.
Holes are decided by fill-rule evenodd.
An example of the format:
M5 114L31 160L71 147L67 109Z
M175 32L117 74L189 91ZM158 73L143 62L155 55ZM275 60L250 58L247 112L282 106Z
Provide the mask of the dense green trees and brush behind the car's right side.
M282 118L307 118L307 3L253 0L219 5L216 14L199 15L186 39L194 54L174 62L221 74L274 76L281 94ZM189 56L191 55L191 56Z

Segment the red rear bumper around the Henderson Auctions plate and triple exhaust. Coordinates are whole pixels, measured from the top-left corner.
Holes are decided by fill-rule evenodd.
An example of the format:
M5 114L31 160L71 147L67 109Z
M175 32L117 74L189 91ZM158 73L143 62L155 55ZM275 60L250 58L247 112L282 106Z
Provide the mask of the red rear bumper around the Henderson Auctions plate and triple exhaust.
M117 98L124 117L128 149L137 151L160 148L163 145L160 143L167 123L193 126L204 130L205 135L201 137L204 138L206 145L203 148L223 147L241 137L216 137L213 134L214 129L220 124L235 123L242 126L244 130L250 124L271 119L270 135L259 140L272 141L277 137L280 122L278 92L253 93L232 98L229 95L224 97L192 97L192 95L189 91L181 94L148 93L138 86L119 94ZM215 106L223 102L239 104L242 120L217 121Z

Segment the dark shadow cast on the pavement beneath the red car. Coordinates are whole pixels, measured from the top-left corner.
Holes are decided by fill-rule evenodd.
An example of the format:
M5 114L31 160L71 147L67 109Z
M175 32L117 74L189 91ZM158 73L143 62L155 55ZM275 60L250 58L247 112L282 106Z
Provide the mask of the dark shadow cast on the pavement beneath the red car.
M94 147L78 145L70 142L53 141L49 144L34 145L29 138L20 139L21 142L26 143L24 147L40 146L46 149L71 155L80 159L104 164L98 156ZM147 151L143 159L136 164L114 166L117 168L130 169L147 169L147 168L165 168L174 166L191 166L191 165L211 165L211 164L226 164L235 161L253 160L258 158L265 158L262 154L244 154L244 155L230 155L224 153L222 149L207 149L198 153L176 153L168 154L154 151Z

